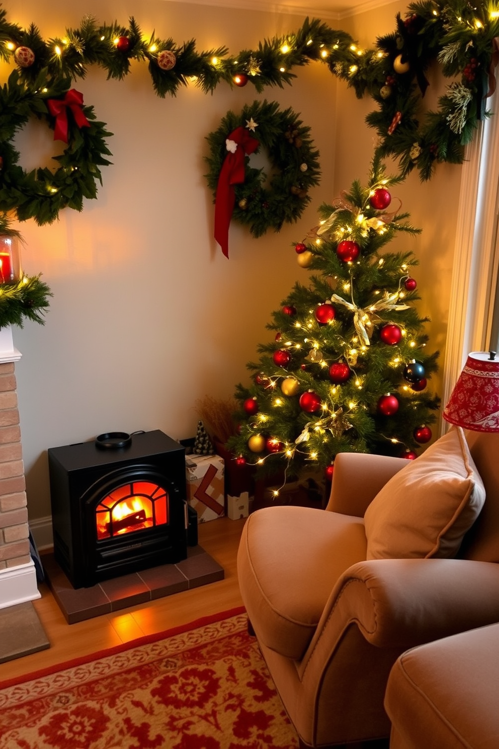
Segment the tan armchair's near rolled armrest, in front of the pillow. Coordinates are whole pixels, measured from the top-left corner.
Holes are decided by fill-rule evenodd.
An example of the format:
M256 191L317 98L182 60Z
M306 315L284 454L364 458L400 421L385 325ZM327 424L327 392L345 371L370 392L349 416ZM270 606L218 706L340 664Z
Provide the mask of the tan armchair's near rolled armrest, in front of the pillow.
M354 620L373 645L407 649L499 622L499 565L455 559L358 562L338 580L329 605L340 608L343 621Z

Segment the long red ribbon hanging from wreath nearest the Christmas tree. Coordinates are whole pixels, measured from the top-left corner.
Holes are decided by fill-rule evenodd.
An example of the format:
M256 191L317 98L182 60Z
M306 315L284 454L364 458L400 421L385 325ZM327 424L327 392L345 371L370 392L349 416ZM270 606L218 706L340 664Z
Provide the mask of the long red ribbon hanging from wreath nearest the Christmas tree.
M257 150L260 143L245 127L236 127L227 140L236 142L236 151L229 152L218 175L215 195L215 240L225 257L229 257L229 224L236 202L235 184L245 181L245 156Z

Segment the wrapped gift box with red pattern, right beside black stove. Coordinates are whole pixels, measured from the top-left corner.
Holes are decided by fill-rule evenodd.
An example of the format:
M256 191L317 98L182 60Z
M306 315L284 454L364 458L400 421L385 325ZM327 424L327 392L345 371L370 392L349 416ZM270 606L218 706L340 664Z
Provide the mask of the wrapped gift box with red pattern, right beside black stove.
M198 521L224 515L224 461L219 455L186 457L187 501L198 513Z

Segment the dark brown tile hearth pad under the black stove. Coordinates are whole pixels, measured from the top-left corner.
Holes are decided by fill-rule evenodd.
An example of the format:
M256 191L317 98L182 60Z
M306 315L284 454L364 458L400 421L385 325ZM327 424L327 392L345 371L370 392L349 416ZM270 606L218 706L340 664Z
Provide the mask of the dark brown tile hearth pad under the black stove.
M102 580L91 588L73 588L51 552L43 554L42 563L47 583L68 624L224 579L224 569L200 546L189 547L187 559L176 564Z

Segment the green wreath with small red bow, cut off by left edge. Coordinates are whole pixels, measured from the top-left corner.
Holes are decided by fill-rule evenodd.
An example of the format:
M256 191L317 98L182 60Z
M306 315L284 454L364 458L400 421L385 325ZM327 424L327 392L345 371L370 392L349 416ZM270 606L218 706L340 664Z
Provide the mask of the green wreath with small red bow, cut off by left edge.
M33 218L39 225L52 223L62 208L82 210L83 198L97 198L100 167L111 163L105 159L111 155L105 138L112 133L105 123L97 122L94 108L70 89L70 79L49 84L45 72L30 85L14 70L0 88L0 211L13 210L19 221ZM54 130L54 140L66 144L52 157L55 171L27 172L19 165L12 141L33 115Z

